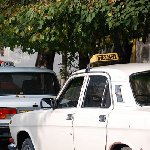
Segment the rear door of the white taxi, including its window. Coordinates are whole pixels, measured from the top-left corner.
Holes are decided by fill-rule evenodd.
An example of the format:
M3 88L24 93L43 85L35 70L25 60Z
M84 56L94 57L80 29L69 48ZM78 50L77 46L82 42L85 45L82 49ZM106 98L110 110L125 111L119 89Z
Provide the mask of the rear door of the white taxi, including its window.
M74 115L76 150L104 150L107 143L107 122L113 109L110 77L105 73L89 73L82 107Z

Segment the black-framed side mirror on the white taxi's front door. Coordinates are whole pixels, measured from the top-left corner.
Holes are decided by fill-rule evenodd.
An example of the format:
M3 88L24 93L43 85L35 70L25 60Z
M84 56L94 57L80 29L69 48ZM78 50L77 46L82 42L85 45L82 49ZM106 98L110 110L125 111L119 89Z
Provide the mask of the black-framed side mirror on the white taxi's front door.
M41 108L55 108L54 98L42 98L40 102Z

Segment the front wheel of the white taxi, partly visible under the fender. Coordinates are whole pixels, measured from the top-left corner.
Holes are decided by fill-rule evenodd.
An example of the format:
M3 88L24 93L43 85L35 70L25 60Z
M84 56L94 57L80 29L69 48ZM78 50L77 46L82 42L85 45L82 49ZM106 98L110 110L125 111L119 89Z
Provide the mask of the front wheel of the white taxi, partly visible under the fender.
M21 150L35 150L30 138L24 140Z

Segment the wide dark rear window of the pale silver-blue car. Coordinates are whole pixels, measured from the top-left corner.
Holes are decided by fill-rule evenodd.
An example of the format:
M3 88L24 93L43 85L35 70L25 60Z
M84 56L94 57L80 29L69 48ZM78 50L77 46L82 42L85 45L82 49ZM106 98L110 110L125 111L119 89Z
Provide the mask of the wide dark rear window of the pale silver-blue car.
M56 95L59 83L51 73L1 73L0 95Z

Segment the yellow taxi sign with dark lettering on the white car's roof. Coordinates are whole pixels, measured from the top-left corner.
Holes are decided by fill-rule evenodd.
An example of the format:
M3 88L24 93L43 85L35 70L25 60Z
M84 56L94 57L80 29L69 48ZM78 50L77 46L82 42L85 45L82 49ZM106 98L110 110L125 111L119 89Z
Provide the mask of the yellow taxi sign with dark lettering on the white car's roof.
M113 60L119 60L117 53L95 54L90 59L90 63L108 62Z

